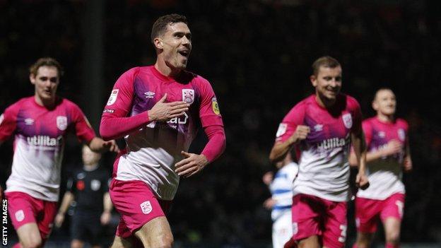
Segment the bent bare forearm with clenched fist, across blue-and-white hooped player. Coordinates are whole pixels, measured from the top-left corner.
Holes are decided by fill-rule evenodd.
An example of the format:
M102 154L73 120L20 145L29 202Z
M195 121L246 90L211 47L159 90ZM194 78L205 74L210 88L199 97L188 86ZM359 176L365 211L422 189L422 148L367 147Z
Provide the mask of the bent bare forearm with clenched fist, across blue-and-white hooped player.
M269 153L269 160L271 163L277 163L285 158L286 153L293 145L304 140L310 133L309 126L298 125L293 135L291 135L286 141L277 141L274 143L271 153Z

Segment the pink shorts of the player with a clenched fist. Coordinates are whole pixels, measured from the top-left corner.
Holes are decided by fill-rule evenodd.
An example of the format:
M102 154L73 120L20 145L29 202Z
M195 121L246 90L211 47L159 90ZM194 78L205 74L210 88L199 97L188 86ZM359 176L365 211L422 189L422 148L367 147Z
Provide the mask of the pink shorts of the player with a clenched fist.
M294 240L317 235L324 247L344 247L347 228L346 202L297 194L293 197L292 210Z

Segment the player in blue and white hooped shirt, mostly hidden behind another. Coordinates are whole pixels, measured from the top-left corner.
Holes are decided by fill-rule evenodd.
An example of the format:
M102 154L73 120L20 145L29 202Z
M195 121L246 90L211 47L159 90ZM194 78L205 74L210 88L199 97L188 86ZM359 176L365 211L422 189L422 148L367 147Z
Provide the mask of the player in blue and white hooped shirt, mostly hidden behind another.
M298 165L293 161L291 154L276 163L278 171L266 172L262 180L269 186L271 197L264 201L265 208L272 209L273 220L273 248L283 248L286 242L293 237L291 223L291 207L293 206L293 182L298 172Z

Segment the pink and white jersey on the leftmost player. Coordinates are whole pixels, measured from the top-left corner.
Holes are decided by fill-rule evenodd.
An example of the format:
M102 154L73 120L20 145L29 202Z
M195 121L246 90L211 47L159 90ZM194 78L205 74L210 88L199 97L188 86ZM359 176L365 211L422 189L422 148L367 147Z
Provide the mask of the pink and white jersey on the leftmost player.
M82 141L95 132L80 108L59 98L53 109L23 98L0 117L0 141L15 134L12 172L6 192L20 191L45 201L58 201L64 136L73 131Z

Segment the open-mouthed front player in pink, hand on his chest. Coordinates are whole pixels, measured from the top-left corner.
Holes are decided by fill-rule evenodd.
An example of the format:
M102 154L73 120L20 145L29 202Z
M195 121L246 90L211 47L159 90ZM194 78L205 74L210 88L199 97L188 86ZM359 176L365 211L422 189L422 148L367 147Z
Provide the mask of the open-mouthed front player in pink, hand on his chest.
M206 79L186 71L192 33L184 16L155 21L151 33L157 59L135 67L114 84L100 133L124 137L127 150L114 163L110 196L121 214L113 247L171 247L165 217L181 177L204 169L223 153L225 133L218 102ZM208 143L188 153L201 124Z

